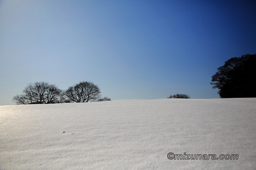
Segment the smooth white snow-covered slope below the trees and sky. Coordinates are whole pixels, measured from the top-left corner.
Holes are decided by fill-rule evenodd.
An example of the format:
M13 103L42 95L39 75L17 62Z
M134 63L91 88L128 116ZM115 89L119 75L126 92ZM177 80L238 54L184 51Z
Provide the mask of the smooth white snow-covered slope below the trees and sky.
M0 106L0 169L256 169L255 132L256 98Z

